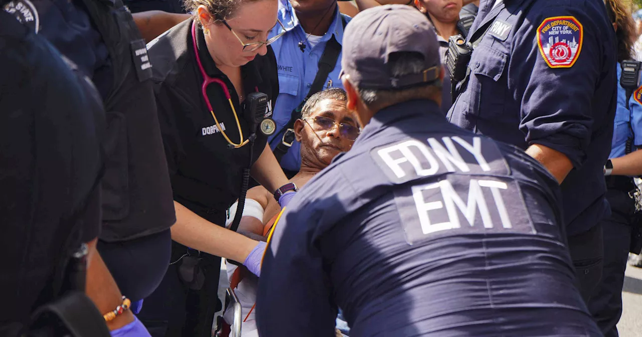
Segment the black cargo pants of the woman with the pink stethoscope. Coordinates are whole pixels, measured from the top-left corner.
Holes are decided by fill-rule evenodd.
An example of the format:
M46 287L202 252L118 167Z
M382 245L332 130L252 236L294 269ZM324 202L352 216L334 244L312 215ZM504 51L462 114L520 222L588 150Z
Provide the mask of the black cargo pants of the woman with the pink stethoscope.
M210 337L214 313L221 309L220 271L220 257L172 241L168 271L138 318L153 337Z

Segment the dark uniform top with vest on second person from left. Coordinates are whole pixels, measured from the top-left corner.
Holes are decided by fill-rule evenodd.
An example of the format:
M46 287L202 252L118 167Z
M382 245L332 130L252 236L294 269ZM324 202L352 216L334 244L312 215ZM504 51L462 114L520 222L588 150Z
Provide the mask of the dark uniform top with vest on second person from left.
M78 65L100 92L107 135L102 241L128 241L176 221L153 97L152 70L119 0L13 0L3 6ZM141 54L141 52L143 52ZM137 62L141 60L141 62Z

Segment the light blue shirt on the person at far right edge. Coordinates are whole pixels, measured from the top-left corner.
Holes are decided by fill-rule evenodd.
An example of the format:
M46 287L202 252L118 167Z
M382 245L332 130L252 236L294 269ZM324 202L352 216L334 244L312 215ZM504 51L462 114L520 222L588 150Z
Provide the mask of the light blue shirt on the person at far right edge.
M618 64L618 79L621 73L622 69ZM627 91L618 81L618 107L615 111L613 141L609 158L618 158L625 155L629 138L633 139L634 146L642 145L642 87L638 87L632 93L629 98L629 108L627 108L626 100Z

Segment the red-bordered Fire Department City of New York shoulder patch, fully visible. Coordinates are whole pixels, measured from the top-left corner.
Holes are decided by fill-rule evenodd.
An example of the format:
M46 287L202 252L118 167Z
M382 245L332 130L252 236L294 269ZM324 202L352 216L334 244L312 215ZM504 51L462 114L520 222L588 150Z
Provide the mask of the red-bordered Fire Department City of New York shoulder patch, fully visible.
M582 51L584 28L571 16L549 17L537 27L537 45L551 68L570 68Z

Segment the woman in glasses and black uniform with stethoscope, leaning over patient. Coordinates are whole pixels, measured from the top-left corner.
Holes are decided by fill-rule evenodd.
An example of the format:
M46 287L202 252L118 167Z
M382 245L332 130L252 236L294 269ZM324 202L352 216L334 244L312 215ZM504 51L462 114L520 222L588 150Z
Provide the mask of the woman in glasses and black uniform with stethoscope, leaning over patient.
M168 272L139 315L152 336L211 335L221 307L219 256L256 273L265 243L220 227L229 206L243 200L250 172L281 205L295 194L266 146L279 92L268 45L280 36L266 40L281 25L277 6L187 0L195 17L148 44L177 216Z

